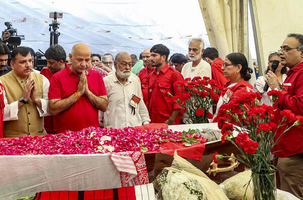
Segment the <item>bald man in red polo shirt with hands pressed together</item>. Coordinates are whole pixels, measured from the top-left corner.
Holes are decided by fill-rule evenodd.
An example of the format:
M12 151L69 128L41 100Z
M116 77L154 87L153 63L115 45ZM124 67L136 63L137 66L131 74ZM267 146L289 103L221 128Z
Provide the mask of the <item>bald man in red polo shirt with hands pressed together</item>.
M57 72L49 86L49 108L57 115L57 133L98 126L98 110L105 112L108 97L102 75L88 69L90 49L84 43L73 46L72 64Z

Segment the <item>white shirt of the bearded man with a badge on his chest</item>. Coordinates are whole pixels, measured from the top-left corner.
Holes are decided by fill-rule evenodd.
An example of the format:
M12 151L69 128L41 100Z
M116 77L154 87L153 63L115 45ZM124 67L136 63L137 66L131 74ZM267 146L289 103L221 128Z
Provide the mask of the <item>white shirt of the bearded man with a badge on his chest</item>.
M141 84L136 78L130 76L125 85L118 81L116 73L103 80L109 98L108 109L104 113L104 127L123 128L150 122L147 108L143 102ZM130 106L133 95L141 99L135 111Z

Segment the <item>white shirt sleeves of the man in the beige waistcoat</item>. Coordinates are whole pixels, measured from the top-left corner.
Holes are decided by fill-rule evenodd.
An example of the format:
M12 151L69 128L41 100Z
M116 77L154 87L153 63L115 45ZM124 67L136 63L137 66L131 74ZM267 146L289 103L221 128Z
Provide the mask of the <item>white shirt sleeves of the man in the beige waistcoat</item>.
M41 75L42 76L42 75ZM27 81L30 79L30 77L24 82L24 84L27 83ZM42 82L43 82L43 94L42 94L42 99L41 100L41 108L38 108L38 112L40 114L40 117L43 116L49 116L52 115L51 111L49 110L49 106L48 106L48 88L49 88L49 81L47 80L47 78L45 78L44 76L42 76ZM0 83L2 84L1 80ZM18 119L18 101L14 101L11 104L8 104L8 99L6 97L6 93L5 91L3 92L3 96L4 96L4 103L5 103L5 108L4 108L4 116L3 116L3 120L4 121L9 121L9 120L17 120Z

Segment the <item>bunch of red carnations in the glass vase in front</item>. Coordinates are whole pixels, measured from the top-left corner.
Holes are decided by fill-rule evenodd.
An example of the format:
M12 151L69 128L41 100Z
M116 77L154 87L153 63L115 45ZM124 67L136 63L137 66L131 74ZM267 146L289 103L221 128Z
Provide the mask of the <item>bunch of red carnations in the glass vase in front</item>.
M275 100L282 97L279 91L269 92L275 96ZM271 155L274 146L279 142L277 129L290 129L293 126L303 129L303 117L295 115L290 110L280 113L273 106L260 105L259 93L246 93L231 100L229 104L223 104L218 112L218 127L222 133L222 143L229 141L240 150L240 155L235 159L244 163L254 173L272 172ZM274 114L280 114L282 120L276 124L272 121ZM284 132L285 132L284 130ZM283 132L283 134L284 134ZM214 154L217 159L230 158Z

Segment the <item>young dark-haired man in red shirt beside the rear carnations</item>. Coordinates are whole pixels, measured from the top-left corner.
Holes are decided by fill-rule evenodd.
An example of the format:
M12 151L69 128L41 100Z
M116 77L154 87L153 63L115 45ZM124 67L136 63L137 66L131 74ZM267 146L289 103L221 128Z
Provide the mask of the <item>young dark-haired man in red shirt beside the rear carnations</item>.
M167 57L169 49L163 44L157 44L150 49L151 65L156 66L149 75L149 117L151 123L180 124L182 108L173 102L173 97L182 96L181 90L174 83L183 81L183 76L172 66L169 66Z

